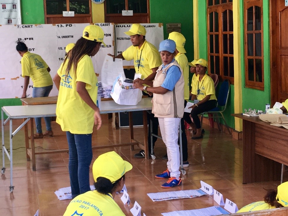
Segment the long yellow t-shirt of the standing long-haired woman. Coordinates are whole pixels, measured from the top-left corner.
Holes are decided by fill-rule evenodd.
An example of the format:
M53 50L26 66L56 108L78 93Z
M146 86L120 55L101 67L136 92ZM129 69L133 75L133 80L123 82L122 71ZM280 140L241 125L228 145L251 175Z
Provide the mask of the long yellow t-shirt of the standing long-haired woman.
M56 122L61 126L62 131L69 131L75 134L90 134L93 132L94 126L94 110L77 93L76 82L86 83L86 89L96 104L98 80L92 60L88 55L84 55L78 62L76 74L72 65L72 69L65 80L67 64L68 60L65 65L62 63L57 71L61 81L56 106ZM63 70L61 70L62 67Z

